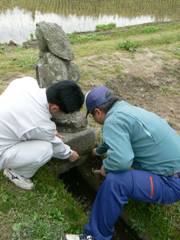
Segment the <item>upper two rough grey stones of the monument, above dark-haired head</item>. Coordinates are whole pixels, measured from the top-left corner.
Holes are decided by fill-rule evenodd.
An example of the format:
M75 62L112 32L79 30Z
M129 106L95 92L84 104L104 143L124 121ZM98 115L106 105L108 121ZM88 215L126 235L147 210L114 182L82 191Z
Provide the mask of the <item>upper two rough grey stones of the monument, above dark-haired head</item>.
M47 87L51 83L67 79L78 81L79 69L72 62L74 55L62 28L46 22L40 22L36 26L40 49L36 74L40 86Z

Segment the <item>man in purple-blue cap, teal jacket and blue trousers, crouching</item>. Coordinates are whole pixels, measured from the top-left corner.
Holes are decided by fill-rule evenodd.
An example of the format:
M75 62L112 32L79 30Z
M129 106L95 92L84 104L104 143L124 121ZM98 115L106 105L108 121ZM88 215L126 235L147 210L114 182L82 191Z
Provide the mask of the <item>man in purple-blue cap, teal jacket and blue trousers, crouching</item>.
M170 204L180 200L180 136L156 114L119 100L107 87L93 88L86 107L103 125L106 153L102 183L85 234L67 240L110 240L128 199Z

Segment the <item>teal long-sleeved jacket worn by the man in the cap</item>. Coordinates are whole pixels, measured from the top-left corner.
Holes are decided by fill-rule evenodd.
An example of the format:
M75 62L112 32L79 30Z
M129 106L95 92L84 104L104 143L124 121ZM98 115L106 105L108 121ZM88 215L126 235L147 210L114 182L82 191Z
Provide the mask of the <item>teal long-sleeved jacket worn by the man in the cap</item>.
M107 172L131 167L164 176L180 172L180 136L158 115L118 101L107 112L102 130L104 143L96 153L107 153Z

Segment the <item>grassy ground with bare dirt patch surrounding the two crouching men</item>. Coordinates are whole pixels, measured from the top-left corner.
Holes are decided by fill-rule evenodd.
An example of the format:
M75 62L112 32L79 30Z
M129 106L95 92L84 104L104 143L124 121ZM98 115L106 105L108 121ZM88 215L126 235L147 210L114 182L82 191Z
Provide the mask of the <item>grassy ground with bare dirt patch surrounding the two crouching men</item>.
M83 89L106 84L124 99L159 113L180 132L180 22L98 30L69 35ZM0 91L16 76L35 76L37 60L37 48L1 45ZM85 222L81 206L47 166L34 177L32 192L16 189L2 174L0 181L0 239L58 239L61 230L78 232ZM140 234L180 240L179 203L130 202L126 213Z

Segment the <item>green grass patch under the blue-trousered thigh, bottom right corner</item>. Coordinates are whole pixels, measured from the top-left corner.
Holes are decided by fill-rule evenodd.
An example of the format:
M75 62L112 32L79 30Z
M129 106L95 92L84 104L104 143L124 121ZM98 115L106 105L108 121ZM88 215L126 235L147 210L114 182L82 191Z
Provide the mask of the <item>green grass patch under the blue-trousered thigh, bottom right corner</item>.
M180 205L147 204L130 201L126 210L129 224L141 236L154 240L180 240Z

